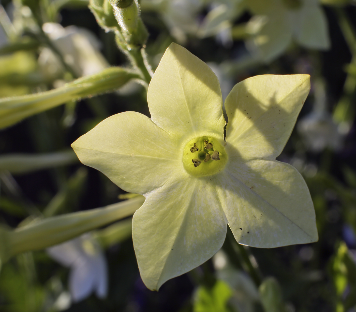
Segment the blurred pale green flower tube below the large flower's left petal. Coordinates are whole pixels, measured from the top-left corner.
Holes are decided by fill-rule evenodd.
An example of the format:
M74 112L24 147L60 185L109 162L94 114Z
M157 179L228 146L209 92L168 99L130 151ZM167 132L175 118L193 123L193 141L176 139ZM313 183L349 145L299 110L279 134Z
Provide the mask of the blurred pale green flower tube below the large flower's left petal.
M31 223L8 232L10 258L19 253L41 250L72 239L108 223L129 217L145 201L137 196L127 201L82 212L68 213ZM3 259L1 259L3 260Z

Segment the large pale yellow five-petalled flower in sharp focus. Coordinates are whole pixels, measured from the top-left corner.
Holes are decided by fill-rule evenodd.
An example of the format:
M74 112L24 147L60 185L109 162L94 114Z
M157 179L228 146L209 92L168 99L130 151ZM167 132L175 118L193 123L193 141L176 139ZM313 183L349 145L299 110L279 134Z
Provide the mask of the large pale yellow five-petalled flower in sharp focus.
M308 75L236 84L225 100L225 140L218 78L172 43L148 88L151 119L116 114L72 144L85 165L146 197L133 215L132 237L148 288L211 258L227 224L239 243L255 247L318 239L307 185L275 159L309 88Z

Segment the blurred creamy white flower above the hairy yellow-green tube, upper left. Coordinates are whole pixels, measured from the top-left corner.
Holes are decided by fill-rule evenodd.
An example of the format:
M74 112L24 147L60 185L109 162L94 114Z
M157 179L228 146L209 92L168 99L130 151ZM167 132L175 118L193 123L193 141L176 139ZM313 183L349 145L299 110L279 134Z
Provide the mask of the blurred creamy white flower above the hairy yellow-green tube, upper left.
M90 31L76 26L64 28L56 23L43 24L43 31L78 77L100 72L109 66L99 52L100 42ZM63 72L61 62L49 48L42 49L38 62L49 76L59 76Z

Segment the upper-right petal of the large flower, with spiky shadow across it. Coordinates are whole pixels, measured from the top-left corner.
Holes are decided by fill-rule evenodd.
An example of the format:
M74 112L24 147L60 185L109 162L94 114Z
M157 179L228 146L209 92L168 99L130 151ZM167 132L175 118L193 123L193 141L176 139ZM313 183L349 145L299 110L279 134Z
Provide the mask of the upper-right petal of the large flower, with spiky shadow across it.
M309 75L261 75L235 85L225 100L226 142L241 157L276 158L310 89Z

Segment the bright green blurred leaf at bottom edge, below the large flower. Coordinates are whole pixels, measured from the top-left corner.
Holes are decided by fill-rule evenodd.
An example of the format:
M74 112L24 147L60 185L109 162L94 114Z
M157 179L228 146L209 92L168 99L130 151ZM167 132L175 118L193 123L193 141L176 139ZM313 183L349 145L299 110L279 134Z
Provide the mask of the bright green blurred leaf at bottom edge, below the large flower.
M227 301L231 295L231 288L221 280L211 289L200 286L195 294L193 312L228 312Z

